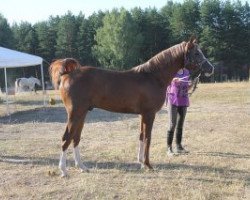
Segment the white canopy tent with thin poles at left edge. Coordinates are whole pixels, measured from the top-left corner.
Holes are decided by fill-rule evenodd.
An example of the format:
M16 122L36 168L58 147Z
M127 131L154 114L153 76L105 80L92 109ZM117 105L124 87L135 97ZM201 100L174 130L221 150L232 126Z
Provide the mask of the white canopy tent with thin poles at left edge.
M40 65L40 68L41 68L42 89L43 89L43 95L45 95L43 59L39 56L0 47L0 69L1 68L4 69L6 103L7 103L8 115L10 113L9 113L9 101L8 101L7 68L29 67L29 66L36 66L36 65ZM45 106L45 96L43 99L44 99L43 104Z

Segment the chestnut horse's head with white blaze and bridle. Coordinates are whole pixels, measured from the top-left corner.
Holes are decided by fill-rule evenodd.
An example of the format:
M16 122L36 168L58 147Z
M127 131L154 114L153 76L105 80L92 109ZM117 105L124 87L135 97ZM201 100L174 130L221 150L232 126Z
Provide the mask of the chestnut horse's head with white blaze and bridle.
M207 77L214 73L214 66L204 56L195 37L187 42L185 52L185 68L194 73L204 73Z

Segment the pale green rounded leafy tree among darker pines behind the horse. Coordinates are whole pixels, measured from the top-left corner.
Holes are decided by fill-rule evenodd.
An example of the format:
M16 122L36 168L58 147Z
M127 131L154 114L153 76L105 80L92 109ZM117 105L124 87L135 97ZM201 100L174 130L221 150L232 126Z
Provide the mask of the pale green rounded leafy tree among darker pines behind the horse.
M95 40L95 56L105 68L128 69L138 64L142 36L125 9L114 9L105 15L103 27L97 30Z

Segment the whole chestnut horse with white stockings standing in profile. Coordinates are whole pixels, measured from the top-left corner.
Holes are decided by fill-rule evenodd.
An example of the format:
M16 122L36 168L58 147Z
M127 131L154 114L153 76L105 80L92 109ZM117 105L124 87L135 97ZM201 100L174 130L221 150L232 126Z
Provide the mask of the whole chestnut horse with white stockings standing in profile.
M122 72L81 67L72 58L54 61L50 66L50 75L54 87L60 90L68 114L59 162L62 176L67 175L66 151L71 142L76 166L81 171L87 170L81 162L78 144L84 119L92 108L141 115L138 161L142 167L152 169L149 147L155 114L164 103L167 86L184 66L207 75L211 75L214 69L195 39L177 44L146 63Z

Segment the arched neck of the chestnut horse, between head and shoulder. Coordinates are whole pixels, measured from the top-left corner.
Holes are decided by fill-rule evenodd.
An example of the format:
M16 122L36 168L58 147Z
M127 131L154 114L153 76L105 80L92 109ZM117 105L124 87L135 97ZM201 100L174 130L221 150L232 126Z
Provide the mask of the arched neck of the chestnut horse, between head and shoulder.
M170 47L147 62L148 68L155 69L154 75L164 87L167 87L177 71L183 68L185 45L186 43L182 42Z

